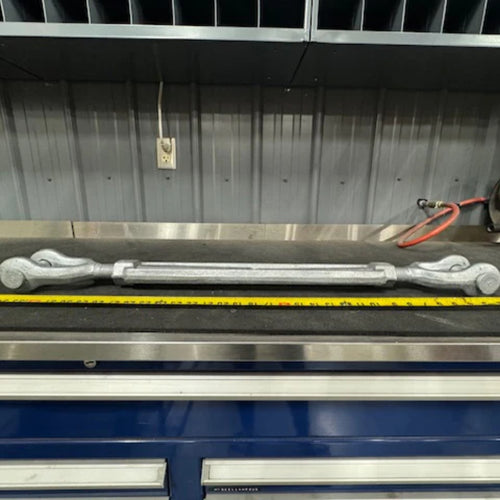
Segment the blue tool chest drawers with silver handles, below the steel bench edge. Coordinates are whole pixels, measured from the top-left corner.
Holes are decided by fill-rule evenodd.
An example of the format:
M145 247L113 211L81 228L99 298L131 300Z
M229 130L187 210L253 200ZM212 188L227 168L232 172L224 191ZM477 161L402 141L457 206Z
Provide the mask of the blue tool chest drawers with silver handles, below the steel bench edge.
M0 498L500 491L499 376L461 368L4 371Z

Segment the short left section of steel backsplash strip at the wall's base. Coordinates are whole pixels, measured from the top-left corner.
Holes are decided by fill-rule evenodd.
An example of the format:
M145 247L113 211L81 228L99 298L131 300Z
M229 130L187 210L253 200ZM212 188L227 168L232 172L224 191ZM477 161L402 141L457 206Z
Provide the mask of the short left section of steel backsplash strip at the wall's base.
M0 220L0 238L73 238L71 221Z

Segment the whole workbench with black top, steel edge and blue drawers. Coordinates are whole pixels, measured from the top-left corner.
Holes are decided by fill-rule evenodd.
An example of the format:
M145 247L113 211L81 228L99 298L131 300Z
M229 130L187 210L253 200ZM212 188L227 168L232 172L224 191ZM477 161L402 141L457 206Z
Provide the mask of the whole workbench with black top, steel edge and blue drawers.
M399 250L393 243L360 242L6 239L0 258L41 248L100 262L406 265L456 253L500 266L498 247L488 243ZM291 290L111 283L45 288L35 295L48 293L440 295L400 286ZM428 490L433 498L455 498L457 489L484 498L500 488L497 307L3 304L0 318L0 457L20 460L26 474L33 464L83 466L90 484L92 467L106 461L108 467L133 468L142 460L141 467L166 468L159 486L124 489L110 479L90 493L59 488L59 498L425 498ZM380 377L389 391L377 389ZM318 469L321 463L331 467ZM357 482L354 473L346 484L339 482L333 471L341 465L374 471L373 484ZM482 467L491 468L493 479L468 482L467 474ZM397 484L384 484L382 469ZM439 476L449 470L451 479ZM437 479L429 483L433 471ZM397 473L412 479L394 479ZM16 490L23 498L46 492L23 488Z

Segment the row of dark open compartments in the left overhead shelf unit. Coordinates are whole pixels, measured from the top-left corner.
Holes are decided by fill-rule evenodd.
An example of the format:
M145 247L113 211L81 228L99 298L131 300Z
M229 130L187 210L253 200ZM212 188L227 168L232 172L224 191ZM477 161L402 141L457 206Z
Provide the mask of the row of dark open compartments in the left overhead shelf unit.
M0 0L0 21L308 31L311 0ZM51 29L57 33L57 26ZM90 32L91 33L91 32ZM0 35L5 30L0 29ZM7 33L8 34L8 33ZM20 29L18 36L29 33ZM77 36L77 35L75 35ZM79 35L78 35L79 36ZM114 36L110 34L110 36ZM130 36L128 33L125 36ZM151 36L155 36L151 33ZM132 36L133 37L133 36ZM235 32L235 38L238 34Z

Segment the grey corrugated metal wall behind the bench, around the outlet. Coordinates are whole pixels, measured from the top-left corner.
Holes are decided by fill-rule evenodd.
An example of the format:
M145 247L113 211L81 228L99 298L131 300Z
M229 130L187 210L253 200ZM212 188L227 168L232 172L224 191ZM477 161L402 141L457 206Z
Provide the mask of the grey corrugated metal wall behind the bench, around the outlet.
M166 86L168 171L156 85L2 85L1 219L404 223L500 177L500 94Z

